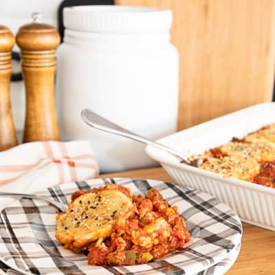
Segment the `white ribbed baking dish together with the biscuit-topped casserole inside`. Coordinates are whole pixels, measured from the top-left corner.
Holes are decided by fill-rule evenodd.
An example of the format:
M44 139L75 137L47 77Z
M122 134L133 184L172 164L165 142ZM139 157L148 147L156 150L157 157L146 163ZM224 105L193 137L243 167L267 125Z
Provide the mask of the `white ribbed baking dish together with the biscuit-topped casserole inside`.
M197 168L146 146L146 153L177 184L208 192L227 203L243 221L275 230L275 102L223 115L157 142L191 159L206 159Z

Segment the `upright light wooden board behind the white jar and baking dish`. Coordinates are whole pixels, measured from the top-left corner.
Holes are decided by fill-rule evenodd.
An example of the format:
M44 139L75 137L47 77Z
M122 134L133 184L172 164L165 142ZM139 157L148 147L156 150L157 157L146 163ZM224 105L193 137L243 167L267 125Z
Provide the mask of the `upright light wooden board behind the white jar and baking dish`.
M273 0L116 0L173 10L178 129L272 100Z

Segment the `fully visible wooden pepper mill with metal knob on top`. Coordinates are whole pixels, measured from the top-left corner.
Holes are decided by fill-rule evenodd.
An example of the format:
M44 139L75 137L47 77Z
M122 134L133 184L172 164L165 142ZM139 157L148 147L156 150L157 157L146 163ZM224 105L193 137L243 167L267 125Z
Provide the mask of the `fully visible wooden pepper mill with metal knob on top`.
M23 25L17 33L26 91L23 142L60 140L54 102L54 76L55 50L61 38L54 27L38 22L39 15L32 14L34 22Z

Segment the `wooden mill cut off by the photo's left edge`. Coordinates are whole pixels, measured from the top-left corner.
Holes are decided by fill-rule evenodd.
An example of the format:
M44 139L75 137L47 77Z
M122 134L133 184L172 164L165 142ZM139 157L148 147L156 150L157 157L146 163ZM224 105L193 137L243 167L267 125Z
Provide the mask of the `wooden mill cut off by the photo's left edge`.
M17 145L17 134L10 106L11 50L14 36L8 28L0 25L0 151Z

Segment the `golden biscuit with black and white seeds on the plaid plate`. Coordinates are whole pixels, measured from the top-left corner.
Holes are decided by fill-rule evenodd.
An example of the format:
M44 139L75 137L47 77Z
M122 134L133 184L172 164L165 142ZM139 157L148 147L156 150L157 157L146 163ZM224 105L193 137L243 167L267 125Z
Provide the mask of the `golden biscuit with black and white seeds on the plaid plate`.
M85 247L110 236L113 222L134 211L131 198L115 188L80 195L56 217L56 239L66 248Z

